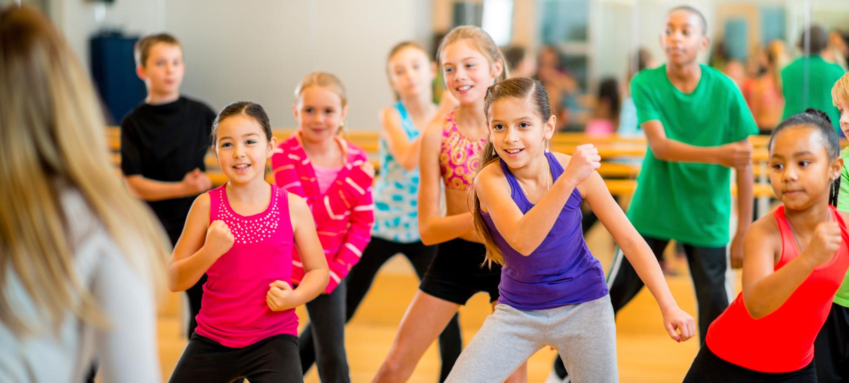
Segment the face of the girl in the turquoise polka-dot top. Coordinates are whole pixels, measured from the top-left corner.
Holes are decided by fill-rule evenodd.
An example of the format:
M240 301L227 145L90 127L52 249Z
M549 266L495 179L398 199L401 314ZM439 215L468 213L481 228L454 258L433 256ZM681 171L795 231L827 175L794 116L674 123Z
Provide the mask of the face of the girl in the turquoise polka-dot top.
M402 98L415 98L430 92L436 66L419 48L410 46L393 54L387 63L392 89Z

